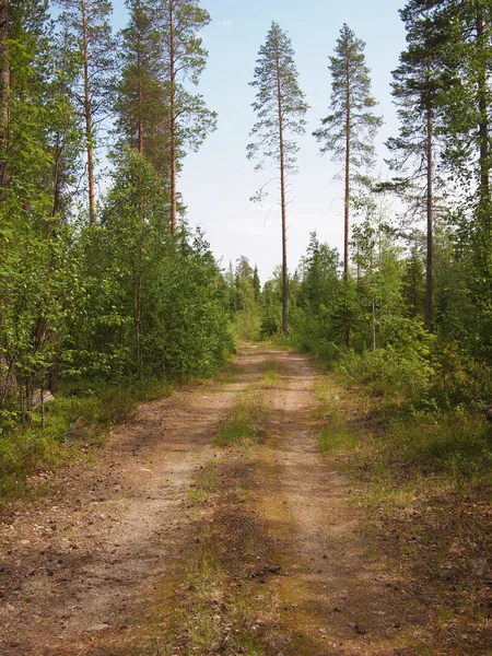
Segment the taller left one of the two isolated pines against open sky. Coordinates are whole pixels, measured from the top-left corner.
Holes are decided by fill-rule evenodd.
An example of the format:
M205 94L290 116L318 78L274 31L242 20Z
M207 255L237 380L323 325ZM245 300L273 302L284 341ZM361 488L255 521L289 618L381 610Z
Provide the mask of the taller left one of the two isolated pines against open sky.
M286 262L286 175L296 169L297 143L293 136L305 131L304 99L294 62L294 50L289 35L272 23L265 45L259 50L255 78L250 85L257 89L253 108L258 121L251 130L255 143L248 145L248 159L258 159L257 168L265 161L273 161L280 171L280 207L282 213L282 332L288 332L288 262Z

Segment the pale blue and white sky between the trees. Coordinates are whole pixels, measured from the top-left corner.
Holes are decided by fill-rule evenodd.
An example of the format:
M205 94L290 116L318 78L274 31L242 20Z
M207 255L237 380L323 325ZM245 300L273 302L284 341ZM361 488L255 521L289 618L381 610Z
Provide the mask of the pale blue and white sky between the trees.
M298 139L298 174L290 179L288 208L288 260L294 271L306 250L309 233L342 249L343 200L340 183L333 180L340 165L330 155L319 155L312 136L329 114L331 80L329 56L333 54L343 23L366 43L373 95L384 117L378 142L376 174L384 175L384 142L398 132L391 103L391 71L406 46L398 9L405 0L202 0L212 21L201 36L209 51L207 69L198 87L210 109L219 114L218 129L198 153L184 161L178 190L187 206L191 226L200 226L223 268L235 266L239 256L257 265L262 281L281 262L281 220L278 183L262 204L249 199L276 177L276 167L255 172L246 159L249 132L256 120L251 109L253 80L258 50L272 21L291 37L298 83L309 105L306 134ZM124 0L114 0L115 27L125 25Z

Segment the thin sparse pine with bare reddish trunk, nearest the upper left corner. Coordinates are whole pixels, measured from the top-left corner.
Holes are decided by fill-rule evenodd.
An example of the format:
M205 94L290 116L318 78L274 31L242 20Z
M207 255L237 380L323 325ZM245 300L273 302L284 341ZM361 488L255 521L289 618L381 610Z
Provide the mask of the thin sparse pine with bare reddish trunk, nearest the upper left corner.
M58 0L65 10L61 22L72 35L72 48L79 54L81 70L74 96L81 108L85 136L89 185L89 219L96 219L94 150L101 122L110 106L109 93L114 84L115 40L109 16L112 3L107 0Z

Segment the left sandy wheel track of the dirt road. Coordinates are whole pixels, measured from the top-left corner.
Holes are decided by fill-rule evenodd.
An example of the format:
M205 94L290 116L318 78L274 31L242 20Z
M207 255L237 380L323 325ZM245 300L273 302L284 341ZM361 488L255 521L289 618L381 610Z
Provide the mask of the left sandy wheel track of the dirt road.
M192 477L260 363L244 354L236 382L143 405L95 465L51 477L59 494L0 527L1 656L79 656L98 644L107 654L140 640L153 590L186 543Z

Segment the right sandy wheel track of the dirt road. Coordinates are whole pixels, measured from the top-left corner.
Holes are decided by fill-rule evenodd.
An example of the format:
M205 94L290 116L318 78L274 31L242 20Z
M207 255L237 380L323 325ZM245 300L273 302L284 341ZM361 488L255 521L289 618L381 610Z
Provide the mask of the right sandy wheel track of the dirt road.
M319 454L313 419L314 367L307 356L277 353L279 384L268 398L268 438L259 452L254 506L285 576L270 586L290 633L284 654L389 656L417 653L418 605L360 537L361 515L348 480ZM377 555L377 554L376 554Z

